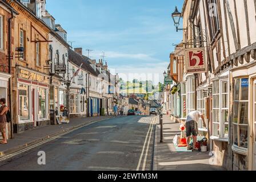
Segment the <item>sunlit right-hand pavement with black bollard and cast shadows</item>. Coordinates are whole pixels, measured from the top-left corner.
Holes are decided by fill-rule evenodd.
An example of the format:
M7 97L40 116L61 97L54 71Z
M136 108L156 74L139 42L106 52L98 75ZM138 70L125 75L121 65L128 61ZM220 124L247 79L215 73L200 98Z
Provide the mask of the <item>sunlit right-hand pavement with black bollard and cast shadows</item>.
M210 164L213 159L209 156L209 152L191 152L175 148L173 138L181 133L180 125L175 123L173 118L163 115L163 143L160 143L161 126L157 125L154 171L223 171L222 167Z

